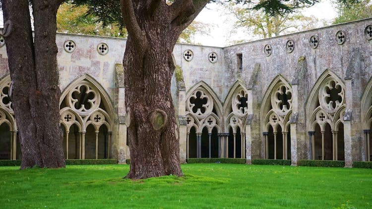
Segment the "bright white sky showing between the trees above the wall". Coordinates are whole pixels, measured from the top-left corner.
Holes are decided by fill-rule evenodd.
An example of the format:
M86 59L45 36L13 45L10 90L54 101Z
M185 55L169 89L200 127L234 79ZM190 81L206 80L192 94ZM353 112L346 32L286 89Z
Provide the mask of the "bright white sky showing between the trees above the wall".
M209 24L211 30L208 35L197 34L194 43L204 46L225 47L231 45L231 41L246 39L245 36L247 34L243 30L230 36L231 22L234 20L234 17L232 15L222 15L223 13L225 13L223 6L217 3L207 4L206 8L195 18L195 21ZM321 0L314 6L306 8L303 14L306 16L314 15L318 19L331 21L336 17L336 10L333 8L330 0ZM2 13L0 12L0 27L2 25Z

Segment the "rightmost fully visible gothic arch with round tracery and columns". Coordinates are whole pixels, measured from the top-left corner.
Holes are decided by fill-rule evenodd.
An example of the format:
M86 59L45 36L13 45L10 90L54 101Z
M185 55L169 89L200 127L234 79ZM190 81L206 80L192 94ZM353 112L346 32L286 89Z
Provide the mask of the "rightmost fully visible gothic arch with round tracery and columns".
M343 160L343 115L345 85L331 70L326 69L312 88L306 104L310 131L310 157ZM317 129L319 125L319 129ZM342 127L340 133L339 128Z

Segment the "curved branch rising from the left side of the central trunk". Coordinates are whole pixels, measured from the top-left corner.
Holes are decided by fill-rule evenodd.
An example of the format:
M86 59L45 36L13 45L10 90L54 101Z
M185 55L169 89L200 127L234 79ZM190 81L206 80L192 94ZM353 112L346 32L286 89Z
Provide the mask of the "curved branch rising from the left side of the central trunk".
M142 31L137 22L132 0L120 0L120 4L128 35L134 39L135 43L140 45L141 50L145 51L148 42L145 37L145 32Z

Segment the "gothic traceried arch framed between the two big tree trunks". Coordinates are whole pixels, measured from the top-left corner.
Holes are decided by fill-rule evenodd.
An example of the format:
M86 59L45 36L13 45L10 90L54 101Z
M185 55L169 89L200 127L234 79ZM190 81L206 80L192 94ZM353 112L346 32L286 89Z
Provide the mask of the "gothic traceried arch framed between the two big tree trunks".
M65 130L65 157L109 158L113 113L110 97L93 77L84 74L72 81L63 90L60 98L60 118ZM78 129L74 128L74 133L70 133L72 126ZM101 131L103 126L106 127L102 129L104 133ZM69 141L70 145L74 146L69 146ZM78 147L78 151L75 147Z

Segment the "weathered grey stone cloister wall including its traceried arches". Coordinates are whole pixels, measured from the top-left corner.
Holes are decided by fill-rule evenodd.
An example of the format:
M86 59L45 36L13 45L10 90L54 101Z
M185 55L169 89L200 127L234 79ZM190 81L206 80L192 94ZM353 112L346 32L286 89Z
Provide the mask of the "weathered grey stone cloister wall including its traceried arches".
M371 160L371 25L366 19L226 48L176 45L181 160ZM66 158L129 157L125 41L57 35ZM0 158L18 159L1 36L0 77Z

